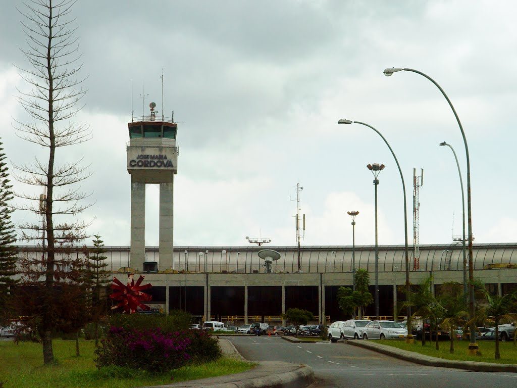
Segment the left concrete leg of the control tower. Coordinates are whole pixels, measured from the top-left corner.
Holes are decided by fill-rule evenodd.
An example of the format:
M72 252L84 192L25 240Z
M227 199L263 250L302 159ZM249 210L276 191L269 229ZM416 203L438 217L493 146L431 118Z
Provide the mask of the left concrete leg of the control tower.
M131 176L131 259L130 267L144 270L145 261L145 183Z

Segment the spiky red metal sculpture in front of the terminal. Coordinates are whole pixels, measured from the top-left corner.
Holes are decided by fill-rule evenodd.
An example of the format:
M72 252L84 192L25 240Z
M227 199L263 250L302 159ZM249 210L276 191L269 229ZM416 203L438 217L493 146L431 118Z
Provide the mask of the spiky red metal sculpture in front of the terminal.
M119 302L116 306L113 306L112 309L123 308L126 314L133 314L136 312L138 307L140 307L142 310L149 310L150 307L144 305L142 302L150 301L151 295L142 291L148 290L153 286L151 286L150 283L141 286L143 280L144 277L140 275L135 283L133 275L128 275L128 283L126 286L120 280L114 277L113 283L111 285L111 288L114 290L114 292L110 295L110 297L111 299Z

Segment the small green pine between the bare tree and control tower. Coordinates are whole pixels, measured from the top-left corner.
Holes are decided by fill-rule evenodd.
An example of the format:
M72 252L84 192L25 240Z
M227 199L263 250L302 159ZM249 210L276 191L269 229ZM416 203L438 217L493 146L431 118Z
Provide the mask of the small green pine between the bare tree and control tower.
M90 273L90 287L91 287L91 306L92 306L92 321L94 323L95 345L99 342L99 321L100 316L105 312L106 286L110 282L109 272L104 268L108 266L105 262L108 257L103 256L106 250L104 249L104 242L100 235L94 235L94 248L90 250L88 255L88 266Z

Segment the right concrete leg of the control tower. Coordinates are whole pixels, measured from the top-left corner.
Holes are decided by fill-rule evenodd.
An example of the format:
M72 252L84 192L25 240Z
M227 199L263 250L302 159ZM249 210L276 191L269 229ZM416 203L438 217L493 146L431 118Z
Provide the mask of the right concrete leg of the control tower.
M160 270L172 268L174 183L160 183Z

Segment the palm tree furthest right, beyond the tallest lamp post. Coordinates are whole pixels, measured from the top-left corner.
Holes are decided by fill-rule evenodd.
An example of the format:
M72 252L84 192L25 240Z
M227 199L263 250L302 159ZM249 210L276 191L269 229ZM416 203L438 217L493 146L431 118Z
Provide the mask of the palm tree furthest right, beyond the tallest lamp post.
M476 290L483 295L486 300L486 305L482 306L474 317L476 321L484 321L488 317L493 317L495 321L495 359L500 360L501 355L499 352L499 324L510 323L512 320L517 319L517 314L511 314L512 302L517 297L517 292L512 292L503 296L492 295L486 289L485 284L481 279L475 279L474 287Z

